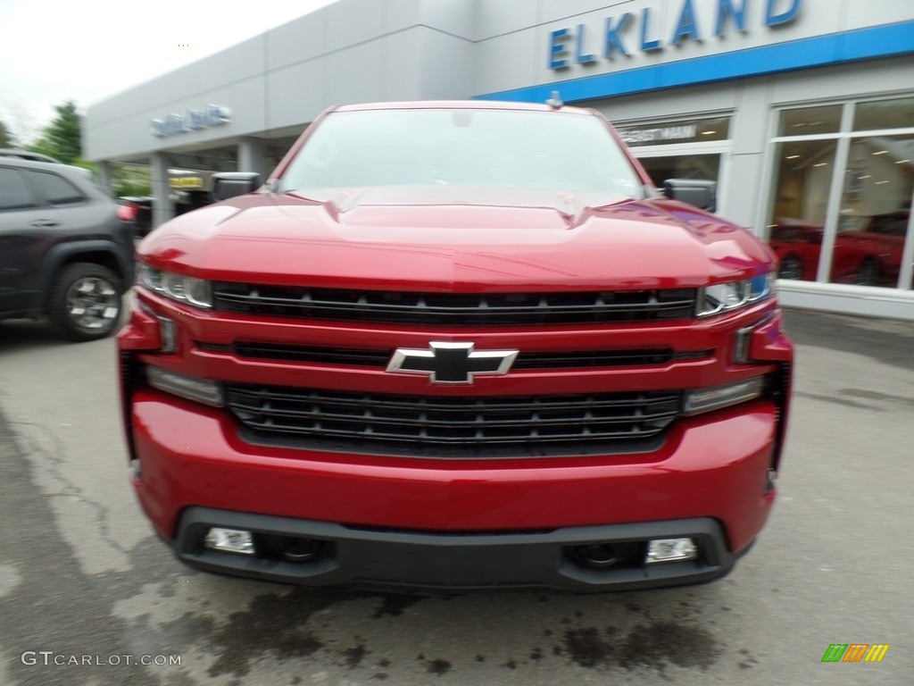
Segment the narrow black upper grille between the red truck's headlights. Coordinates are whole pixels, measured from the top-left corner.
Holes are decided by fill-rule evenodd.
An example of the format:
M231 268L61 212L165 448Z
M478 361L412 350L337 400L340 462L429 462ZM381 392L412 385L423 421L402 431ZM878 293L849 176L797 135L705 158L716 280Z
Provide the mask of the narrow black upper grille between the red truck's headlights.
M687 319L696 290L568 293L390 293L216 282L223 312L416 326L609 324Z

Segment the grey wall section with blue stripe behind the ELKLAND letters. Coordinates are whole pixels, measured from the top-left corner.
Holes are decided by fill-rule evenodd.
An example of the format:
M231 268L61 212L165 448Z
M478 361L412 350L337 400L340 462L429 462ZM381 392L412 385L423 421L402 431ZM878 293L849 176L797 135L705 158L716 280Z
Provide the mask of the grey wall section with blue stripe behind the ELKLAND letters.
M909 52L914 43L914 28L906 24L914 21L914 3L898 0L498 0L483 6L476 91L499 99L542 101L558 86L567 102L579 102ZM728 8L743 11L734 15ZM607 27L618 29L611 49Z

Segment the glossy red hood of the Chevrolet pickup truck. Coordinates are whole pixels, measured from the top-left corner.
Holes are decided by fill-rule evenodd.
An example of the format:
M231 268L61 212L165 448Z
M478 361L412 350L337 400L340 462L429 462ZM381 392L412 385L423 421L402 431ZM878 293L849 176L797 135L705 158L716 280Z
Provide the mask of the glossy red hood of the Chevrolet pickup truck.
M454 187L234 198L154 230L138 254L212 280L437 292L697 287L773 261L682 203Z

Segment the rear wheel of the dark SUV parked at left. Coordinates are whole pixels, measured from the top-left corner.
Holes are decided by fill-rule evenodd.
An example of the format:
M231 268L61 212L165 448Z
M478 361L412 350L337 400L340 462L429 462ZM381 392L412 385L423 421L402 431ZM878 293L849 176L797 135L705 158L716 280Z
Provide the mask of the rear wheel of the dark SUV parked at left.
M101 264L70 264L51 288L48 315L63 338L104 338L121 317L121 282Z

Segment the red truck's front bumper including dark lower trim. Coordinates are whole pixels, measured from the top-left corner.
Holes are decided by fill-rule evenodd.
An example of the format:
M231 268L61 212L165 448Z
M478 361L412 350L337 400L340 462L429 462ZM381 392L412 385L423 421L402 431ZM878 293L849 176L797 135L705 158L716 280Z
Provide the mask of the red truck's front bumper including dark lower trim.
M775 497L773 402L683 419L649 453L498 460L250 445L227 413L150 389L131 403L133 486L180 560L309 585L573 591L710 581L748 550ZM252 554L204 544L249 531ZM647 541L697 557L645 563ZM304 542L314 554L283 551ZM590 545L618 560L595 567ZM300 547L300 546L298 546Z

